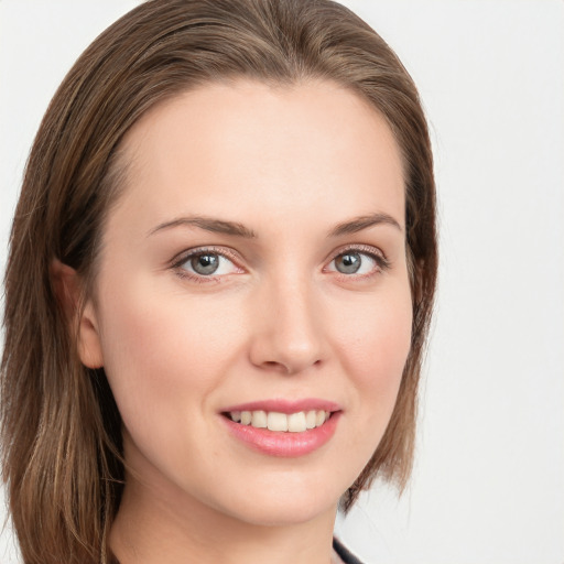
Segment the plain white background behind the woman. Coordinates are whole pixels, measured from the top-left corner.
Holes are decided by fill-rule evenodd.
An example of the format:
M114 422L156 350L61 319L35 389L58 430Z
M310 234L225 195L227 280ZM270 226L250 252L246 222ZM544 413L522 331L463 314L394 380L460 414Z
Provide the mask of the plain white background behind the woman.
M135 3L0 0L2 271L46 105ZM345 3L420 87L442 264L411 487L377 485L339 531L367 564L564 564L564 2Z

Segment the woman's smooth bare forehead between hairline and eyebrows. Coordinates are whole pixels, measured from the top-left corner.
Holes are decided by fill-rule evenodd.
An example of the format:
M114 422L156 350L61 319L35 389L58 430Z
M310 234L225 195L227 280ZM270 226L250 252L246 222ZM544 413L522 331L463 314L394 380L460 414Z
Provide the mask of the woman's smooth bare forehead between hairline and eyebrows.
M389 126L334 83L205 85L151 109L122 150L121 205L148 221L172 213L243 220L234 215L246 206L272 219L315 208L338 221L348 208L360 215L382 205L403 221L402 163Z

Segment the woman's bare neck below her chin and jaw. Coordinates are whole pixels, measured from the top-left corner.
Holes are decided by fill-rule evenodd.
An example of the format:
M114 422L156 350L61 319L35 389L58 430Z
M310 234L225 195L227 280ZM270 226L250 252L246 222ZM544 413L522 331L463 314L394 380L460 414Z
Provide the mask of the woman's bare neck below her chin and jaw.
M166 499L129 476L110 547L120 564L329 564L335 514L257 524L194 498Z

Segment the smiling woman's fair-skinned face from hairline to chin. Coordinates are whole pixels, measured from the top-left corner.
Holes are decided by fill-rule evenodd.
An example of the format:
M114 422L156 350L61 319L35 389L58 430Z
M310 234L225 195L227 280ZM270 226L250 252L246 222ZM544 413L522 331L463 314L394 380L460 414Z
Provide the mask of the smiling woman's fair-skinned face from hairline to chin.
M240 80L154 108L123 147L82 356L116 397L128 484L175 514L333 514L410 348L389 127L332 83Z

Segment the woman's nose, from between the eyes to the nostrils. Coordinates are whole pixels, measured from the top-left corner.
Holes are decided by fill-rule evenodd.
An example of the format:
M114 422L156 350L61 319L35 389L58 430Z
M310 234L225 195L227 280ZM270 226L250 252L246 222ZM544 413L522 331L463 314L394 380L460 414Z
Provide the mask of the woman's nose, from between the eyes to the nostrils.
M252 306L251 362L285 375L322 365L327 343L319 302L307 281L285 280L261 288Z

